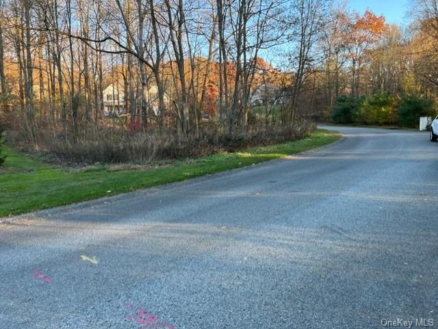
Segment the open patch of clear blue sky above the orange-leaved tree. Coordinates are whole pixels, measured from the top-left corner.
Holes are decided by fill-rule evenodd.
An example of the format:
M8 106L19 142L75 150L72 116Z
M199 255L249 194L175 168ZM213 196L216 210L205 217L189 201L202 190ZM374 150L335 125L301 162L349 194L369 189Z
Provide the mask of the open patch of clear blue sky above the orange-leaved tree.
M348 0L347 7L361 14L369 8L377 15L383 14L387 23L409 24L409 18L405 18L409 0Z

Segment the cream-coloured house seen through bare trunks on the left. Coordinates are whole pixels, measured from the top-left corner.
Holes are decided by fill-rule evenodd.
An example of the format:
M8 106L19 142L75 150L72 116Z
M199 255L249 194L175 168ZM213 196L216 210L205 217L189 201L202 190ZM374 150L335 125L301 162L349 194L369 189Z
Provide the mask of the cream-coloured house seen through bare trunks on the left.
M139 90L141 92L141 90ZM151 85L146 94L149 107L154 111L155 115L158 114L158 88L156 85ZM138 105L140 104L141 97L136 97ZM164 104L170 105L170 97L168 94L164 94ZM103 90L103 114L105 116L119 116L125 114L125 90L120 83L112 83Z

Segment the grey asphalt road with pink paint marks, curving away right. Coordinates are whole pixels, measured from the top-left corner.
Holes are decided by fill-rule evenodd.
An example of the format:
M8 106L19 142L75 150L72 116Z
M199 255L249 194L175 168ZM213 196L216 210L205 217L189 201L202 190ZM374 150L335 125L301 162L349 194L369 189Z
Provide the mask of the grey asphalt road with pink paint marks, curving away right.
M438 327L438 143L335 129L299 156L3 222L0 329Z

